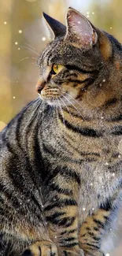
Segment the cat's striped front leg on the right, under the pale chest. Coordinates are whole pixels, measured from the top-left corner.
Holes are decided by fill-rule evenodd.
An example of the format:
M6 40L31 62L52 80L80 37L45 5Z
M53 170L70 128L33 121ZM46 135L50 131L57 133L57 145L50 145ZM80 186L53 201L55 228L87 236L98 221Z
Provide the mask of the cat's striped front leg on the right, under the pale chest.
M88 216L79 232L79 247L85 256L104 256L100 250L105 223L110 211L99 209L97 213Z

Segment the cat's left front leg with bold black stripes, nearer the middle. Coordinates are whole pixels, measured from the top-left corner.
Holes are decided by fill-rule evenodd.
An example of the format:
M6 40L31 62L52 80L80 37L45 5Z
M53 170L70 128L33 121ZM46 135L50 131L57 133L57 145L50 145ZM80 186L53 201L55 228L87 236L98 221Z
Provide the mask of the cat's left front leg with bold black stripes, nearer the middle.
M45 207L45 215L50 238L57 244L59 256L79 255L79 176L72 170L61 169L47 185L50 187L50 202Z

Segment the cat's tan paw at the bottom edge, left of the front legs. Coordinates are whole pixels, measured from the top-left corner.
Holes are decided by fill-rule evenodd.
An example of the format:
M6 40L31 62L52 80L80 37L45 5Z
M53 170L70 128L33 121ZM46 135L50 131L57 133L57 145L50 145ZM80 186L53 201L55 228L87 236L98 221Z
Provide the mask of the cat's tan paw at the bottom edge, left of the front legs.
M24 250L22 256L57 256L57 246L50 241L39 241Z

